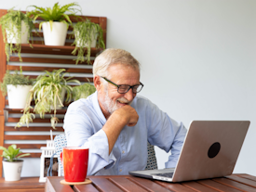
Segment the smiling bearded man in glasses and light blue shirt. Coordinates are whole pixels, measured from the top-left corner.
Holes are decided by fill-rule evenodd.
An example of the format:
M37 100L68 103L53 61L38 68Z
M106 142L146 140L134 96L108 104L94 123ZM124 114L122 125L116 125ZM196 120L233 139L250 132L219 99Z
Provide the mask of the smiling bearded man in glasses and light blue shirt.
M125 50L107 49L95 59L93 80L97 91L72 103L64 118L68 146L89 147L88 175L145 169L147 142L171 149L166 168L175 167L186 129L137 96L139 62Z

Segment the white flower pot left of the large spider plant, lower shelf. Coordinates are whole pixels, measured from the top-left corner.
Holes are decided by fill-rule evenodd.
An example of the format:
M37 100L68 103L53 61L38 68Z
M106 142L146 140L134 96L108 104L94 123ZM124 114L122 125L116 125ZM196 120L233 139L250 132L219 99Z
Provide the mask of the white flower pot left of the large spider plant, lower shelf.
M10 109L24 109L32 85L7 84L7 96Z

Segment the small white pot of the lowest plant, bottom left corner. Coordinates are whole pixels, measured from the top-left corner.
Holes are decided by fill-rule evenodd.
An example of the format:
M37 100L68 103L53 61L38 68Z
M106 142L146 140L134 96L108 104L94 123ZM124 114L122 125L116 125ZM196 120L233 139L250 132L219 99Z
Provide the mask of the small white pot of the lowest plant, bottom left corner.
M20 173L22 170L23 160L9 162L3 160L3 168L6 181L18 181L20 180Z

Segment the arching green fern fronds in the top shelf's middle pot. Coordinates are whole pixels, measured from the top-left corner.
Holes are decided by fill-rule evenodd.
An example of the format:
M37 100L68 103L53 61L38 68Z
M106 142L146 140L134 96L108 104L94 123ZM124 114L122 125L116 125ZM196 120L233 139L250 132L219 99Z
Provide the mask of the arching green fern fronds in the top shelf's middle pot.
M30 11L28 13L28 16L32 17L34 20L38 17L46 20L43 22L40 22L39 24L39 30L41 30L42 24L44 22L50 23L50 29L52 30L52 23L53 21L59 21L63 22L67 25L67 28L69 27L69 24L72 24L70 16L75 16L76 13L81 11L81 6L79 6L77 3L70 3L65 6L60 6L59 3L54 4L54 6L43 8L40 6L33 6L35 9L33 11Z

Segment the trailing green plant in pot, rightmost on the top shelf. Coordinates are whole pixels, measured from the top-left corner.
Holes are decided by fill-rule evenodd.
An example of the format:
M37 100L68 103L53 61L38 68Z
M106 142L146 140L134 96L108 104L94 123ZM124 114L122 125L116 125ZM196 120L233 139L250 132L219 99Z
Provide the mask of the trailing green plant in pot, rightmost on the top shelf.
M73 26L74 31L74 44L75 48L72 54L76 54L76 64L80 61L85 60L85 47L87 48L86 60L90 64L90 48L97 47L105 49L105 44L103 40L103 30L101 26L97 23L91 22L89 19L86 21L78 21Z

